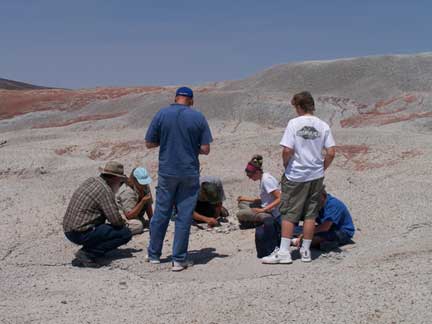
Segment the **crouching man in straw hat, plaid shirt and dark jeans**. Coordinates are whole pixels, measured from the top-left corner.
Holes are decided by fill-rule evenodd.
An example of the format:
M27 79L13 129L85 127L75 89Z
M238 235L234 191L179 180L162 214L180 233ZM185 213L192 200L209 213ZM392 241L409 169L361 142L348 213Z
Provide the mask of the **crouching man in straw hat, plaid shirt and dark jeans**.
M123 165L110 161L99 171L100 176L85 180L75 190L63 218L65 236L82 246L75 253L73 266L100 267L96 258L132 238L115 200L115 194L127 179Z

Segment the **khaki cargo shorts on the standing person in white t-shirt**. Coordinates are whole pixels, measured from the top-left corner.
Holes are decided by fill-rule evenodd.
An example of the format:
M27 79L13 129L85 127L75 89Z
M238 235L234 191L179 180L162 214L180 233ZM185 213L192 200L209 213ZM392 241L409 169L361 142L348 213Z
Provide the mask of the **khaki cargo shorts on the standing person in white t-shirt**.
M321 193L324 178L294 182L282 175L280 213L283 220L298 223L302 220L316 219L321 206Z

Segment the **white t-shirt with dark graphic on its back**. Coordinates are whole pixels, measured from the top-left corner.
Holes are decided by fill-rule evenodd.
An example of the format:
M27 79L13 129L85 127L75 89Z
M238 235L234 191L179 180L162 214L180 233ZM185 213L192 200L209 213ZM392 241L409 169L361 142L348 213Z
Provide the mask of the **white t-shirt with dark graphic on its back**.
M316 116L291 119L280 145L294 150L285 176L294 182L324 177L323 149L335 146L329 125Z

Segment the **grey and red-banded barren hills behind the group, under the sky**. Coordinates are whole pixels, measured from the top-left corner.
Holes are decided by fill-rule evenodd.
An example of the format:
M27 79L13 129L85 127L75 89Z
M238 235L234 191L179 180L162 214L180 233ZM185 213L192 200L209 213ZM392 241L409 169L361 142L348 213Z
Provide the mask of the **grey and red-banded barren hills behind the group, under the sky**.
M194 90L196 106L209 119L283 126L293 116L291 96L307 89L317 114L332 126L362 127L430 117L431 76L431 53L387 55L277 65ZM174 89L0 90L0 131L105 119L142 127L172 101Z

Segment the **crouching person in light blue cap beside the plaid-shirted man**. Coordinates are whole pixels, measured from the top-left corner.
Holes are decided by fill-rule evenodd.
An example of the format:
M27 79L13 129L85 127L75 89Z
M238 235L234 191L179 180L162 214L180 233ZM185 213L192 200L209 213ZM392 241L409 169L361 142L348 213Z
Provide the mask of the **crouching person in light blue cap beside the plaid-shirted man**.
M135 168L117 194L117 203L132 235L141 234L153 216L151 182L146 168ZM145 214L148 221L144 218Z

